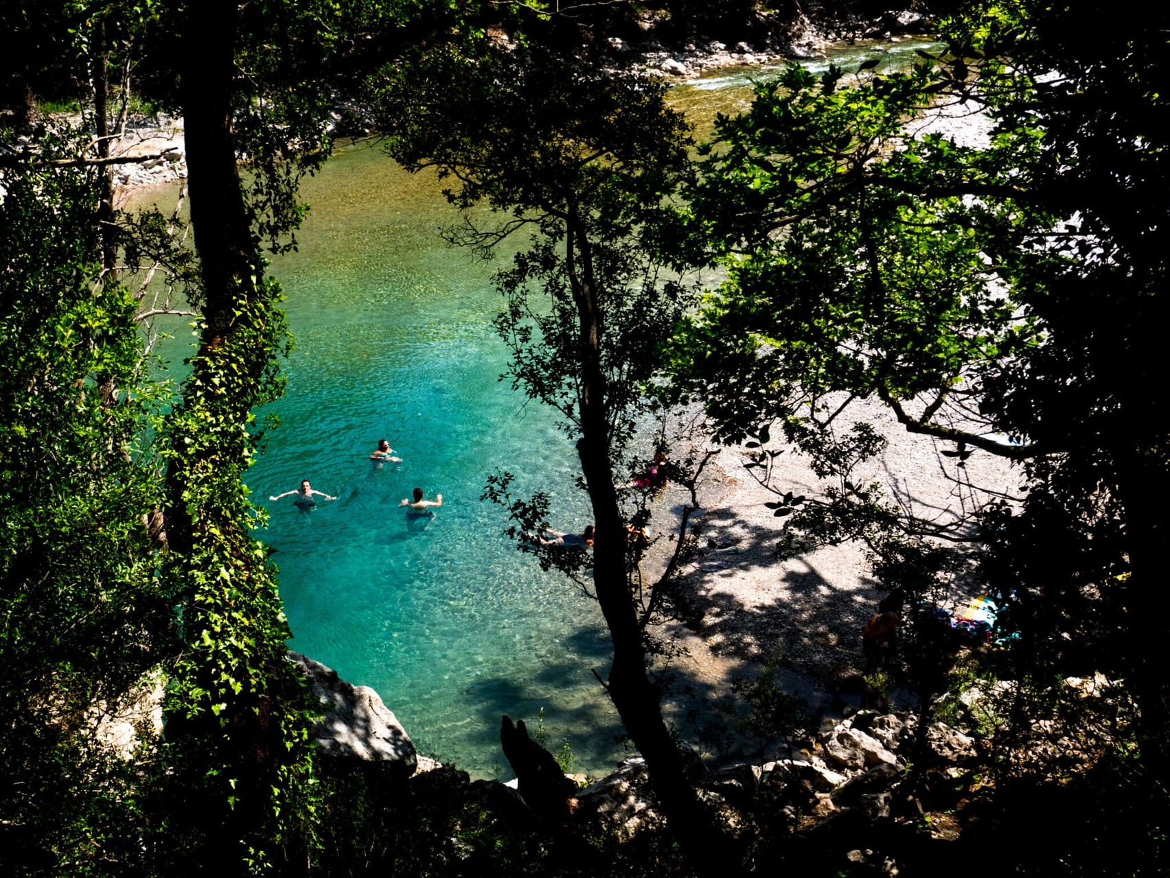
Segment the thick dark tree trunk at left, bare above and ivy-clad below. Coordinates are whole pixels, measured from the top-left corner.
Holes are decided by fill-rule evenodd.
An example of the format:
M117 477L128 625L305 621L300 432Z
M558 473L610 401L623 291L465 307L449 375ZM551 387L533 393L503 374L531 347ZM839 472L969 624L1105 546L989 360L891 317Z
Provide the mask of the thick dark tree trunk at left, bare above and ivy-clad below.
M198 657L183 671L183 682L205 689L209 698L202 700L222 699L222 713L213 715L200 703L194 705L199 710L187 706L168 713L166 726L168 741L178 742L185 753L180 768L195 775L190 789L172 790L179 800L190 797L178 802L186 806L179 808L186 821L181 830L194 839L202 869L229 873L240 871L250 856L249 845L264 845L271 853L270 846L277 844L269 834L269 801L276 784L283 784L283 762L295 755L285 749L282 737L291 732L281 728L287 706L281 700L296 696L296 686L288 683L291 672L283 666L283 640L278 635L267 640L266 625L269 617L280 615L280 604L275 594L275 603L268 602L262 590L266 561L249 555L252 537L243 521L241 481L248 461L241 437L273 352L261 341L241 341L253 339L271 314L261 302L263 263L232 131L238 18L235 0L204 0L188 8L185 21L180 98L205 326L181 406L172 415L174 454L166 475L170 575L184 601L185 637L197 641L212 616L221 623L216 637L229 645L233 635L222 620L230 611L238 617L240 636L249 640L243 664L233 664L240 661L239 652L216 659L192 644L191 654ZM225 375L229 379L221 380ZM208 486L213 486L211 496ZM204 583L214 580L216 565L234 565L233 582L240 582L249 595L221 597L215 589L208 590ZM234 693L219 676L216 661L223 662L223 673L240 686ZM208 773L205 766L214 770ZM230 789L229 777L216 774L225 766ZM218 837L227 824L233 827L235 843Z

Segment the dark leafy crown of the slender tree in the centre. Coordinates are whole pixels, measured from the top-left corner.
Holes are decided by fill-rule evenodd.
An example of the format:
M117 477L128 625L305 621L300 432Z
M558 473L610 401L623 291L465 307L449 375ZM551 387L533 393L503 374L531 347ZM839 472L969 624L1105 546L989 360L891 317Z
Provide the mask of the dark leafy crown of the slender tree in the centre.
M496 276L505 303L496 329L512 354L505 378L556 408L577 441L596 345L597 440L621 469L661 341L688 302L689 291L661 276L636 243L686 166L681 117L665 108L660 85L543 50L468 56L439 48L394 72L384 101L391 154L459 184L446 194L467 221L448 230L452 241L489 256L514 233L535 234ZM480 202L493 219L507 216L496 223L470 213ZM592 330L583 309L596 319ZM509 482L493 482L490 496L504 499ZM548 524L546 504L512 512L517 532Z

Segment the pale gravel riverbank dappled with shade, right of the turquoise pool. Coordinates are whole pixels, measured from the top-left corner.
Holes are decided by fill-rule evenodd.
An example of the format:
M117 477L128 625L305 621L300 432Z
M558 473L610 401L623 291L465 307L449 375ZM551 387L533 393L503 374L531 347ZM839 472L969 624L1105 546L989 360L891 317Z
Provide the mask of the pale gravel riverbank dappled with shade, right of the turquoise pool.
M964 468L956 468L955 458L940 454L949 445L906 433L880 403L854 402L840 423L847 428L859 420L873 423L888 442L858 473L859 481L882 483L890 500L920 516L952 519L984 503L985 490L1013 493L1019 485L1019 471L987 452L976 451ZM732 677L755 677L760 662L779 650L786 684L811 710L839 717L846 703L859 703L861 632L885 589L873 579L860 544L777 558L782 519L765 505L777 498L752 477L753 470L744 469L745 451L722 449L700 492L703 509L693 520L701 554L688 560L682 580L688 623L665 630L683 648L672 670L690 691L717 696L728 691ZM792 450L780 455L773 484L824 496L808 461ZM673 486L660 498L660 533L686 499ZM665 545L655 548L661 559ZM646 572L652 573L648 566ZM969 583L956 581L948 602L957 606L972 596Z

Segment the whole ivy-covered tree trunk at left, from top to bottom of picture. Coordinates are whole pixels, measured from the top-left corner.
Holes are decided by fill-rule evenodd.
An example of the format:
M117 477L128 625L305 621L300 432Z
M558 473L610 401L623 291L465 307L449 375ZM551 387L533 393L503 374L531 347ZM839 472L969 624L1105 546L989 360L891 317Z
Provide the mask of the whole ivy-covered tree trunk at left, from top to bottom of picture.
M179 869L307 867L298 825L311 780L304 684L267 549L250 533L243 473L253 409L276 399L284 316L252 229L232 131L238 5L188 11L181 98L202 277L198 353L168 423L166 576L183 607L183 658L166 703ZM190 853L186 851L190 850ZM300 851L294 853L292 851Z

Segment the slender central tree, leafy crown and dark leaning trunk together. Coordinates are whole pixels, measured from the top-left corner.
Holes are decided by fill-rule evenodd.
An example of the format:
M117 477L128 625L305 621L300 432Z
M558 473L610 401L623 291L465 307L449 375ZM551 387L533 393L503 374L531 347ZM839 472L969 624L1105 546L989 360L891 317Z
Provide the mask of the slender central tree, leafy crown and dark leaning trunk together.
M660 85L538 49L436 49L390 77L386 102L390 153L408 170L434 166L459 184L446 194L468 222L452 240L488 255L521 229L535 233L497 275L505 311L496 326L511 348L515 386L560 412L574 440L597 526L593 592L614 647L606 686L651 766L672 831L696 869L713 871L723 838L684 774L647 677L645 618L658 604L652 599L639 620L629 562L638 549L615 478L660 343L687 304L641 234L686 167L684 123ZM488 226L469 213L481 202L508 217ZM497 478L487 496L508 502L508 490ZM539 497L510 506L524 526L545 510Z

